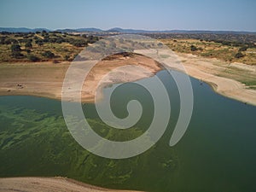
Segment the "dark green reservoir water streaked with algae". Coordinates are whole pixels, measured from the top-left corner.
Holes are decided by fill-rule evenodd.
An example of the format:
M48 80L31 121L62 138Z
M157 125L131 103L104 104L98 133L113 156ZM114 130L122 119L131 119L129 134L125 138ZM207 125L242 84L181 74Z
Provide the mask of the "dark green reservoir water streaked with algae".
M256 108L220 96L191 78L192 119L182 140L171 148L168 143L179 113L177 87L165 71L157 75L170 94L170 123L153 148L126 160L108 160L81 148L67 130L61 102L0 96L0 177L63 176L102 187L147 191L256 191ZM113 92L113 113L125 117L131 99L142 103L143 117L129 131L104 125L93 104L83 105L86 119L102 137L119 141L138 137L150 124L154 106L147 90L123 84Z

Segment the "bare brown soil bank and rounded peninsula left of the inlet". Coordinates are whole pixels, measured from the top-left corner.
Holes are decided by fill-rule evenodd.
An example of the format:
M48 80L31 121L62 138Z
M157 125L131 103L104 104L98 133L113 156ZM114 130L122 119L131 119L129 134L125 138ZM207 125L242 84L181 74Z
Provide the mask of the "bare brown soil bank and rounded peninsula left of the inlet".
M114 68L124 67L127 64L129 64L128 68L109 73ZM52 62L2 63L0 65L0 95L31 95L61 99L62 83L69 65L68 62L58 64ZM143 67L148 73L137 71L132 66ZM113 61L100 61L85 79L81 90L82 101L94 102L97 85L108 73L108 79L105 78L102 84L131 82L147 78L159 70L160 67L155 61L142 55L120 56Z

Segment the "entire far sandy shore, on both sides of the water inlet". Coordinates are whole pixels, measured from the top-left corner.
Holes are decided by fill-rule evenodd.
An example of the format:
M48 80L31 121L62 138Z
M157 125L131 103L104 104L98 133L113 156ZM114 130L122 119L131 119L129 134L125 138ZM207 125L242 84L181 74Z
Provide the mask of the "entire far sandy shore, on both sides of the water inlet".
M256 105L256 90L248 89L245 84L236 80L237 75L231 75L233 72L236 73L236 71L242 70L244 77L256 79L256 66L226 63L217 59L191 54L178 53L177 55L190 76L211 84L212 88L221 95ZM113 60L101 61L90 71L88 78L85 80L82 101L94 102L97 84L106 73L127 64L131 65L128 70L115 70L114 73L109 73L108 78L105 78L102 84L143 79L161 70L157 62L142 55L135 57L117 56ZM68 62L58 64L51 62L2 63L0 65L0 95L31 95L61 99L62 82L69 65ZM143 67L149 73L137 72L132 65ZM233 71L227 71L230 68Z

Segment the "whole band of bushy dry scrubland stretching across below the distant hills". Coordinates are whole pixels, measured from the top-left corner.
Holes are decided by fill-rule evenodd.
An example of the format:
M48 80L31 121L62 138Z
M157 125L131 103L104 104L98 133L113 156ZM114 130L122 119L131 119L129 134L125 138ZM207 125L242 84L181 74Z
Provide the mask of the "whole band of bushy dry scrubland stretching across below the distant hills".
M177 52L256 65L256 37L253 34L153 33L143 35L158 38ZM98 39L90 34L67 32L1 32L0 62L73 61L85 46L95 43ZM124 40L120 39L119 43L119 46L122 46ZM143 43L141 44L143 46ZM111 44L112 48L116 46L115 43ZM94 52L99 52L102 48L108 49L108 46L91 47Z

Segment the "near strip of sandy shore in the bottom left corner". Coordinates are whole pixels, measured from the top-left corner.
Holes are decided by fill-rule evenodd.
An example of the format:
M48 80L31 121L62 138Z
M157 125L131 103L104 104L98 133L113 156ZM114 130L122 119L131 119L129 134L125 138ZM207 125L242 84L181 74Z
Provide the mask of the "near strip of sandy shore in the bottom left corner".
M9 177L0 178L1 192L128 192L132 190L104 189L65 177Z

